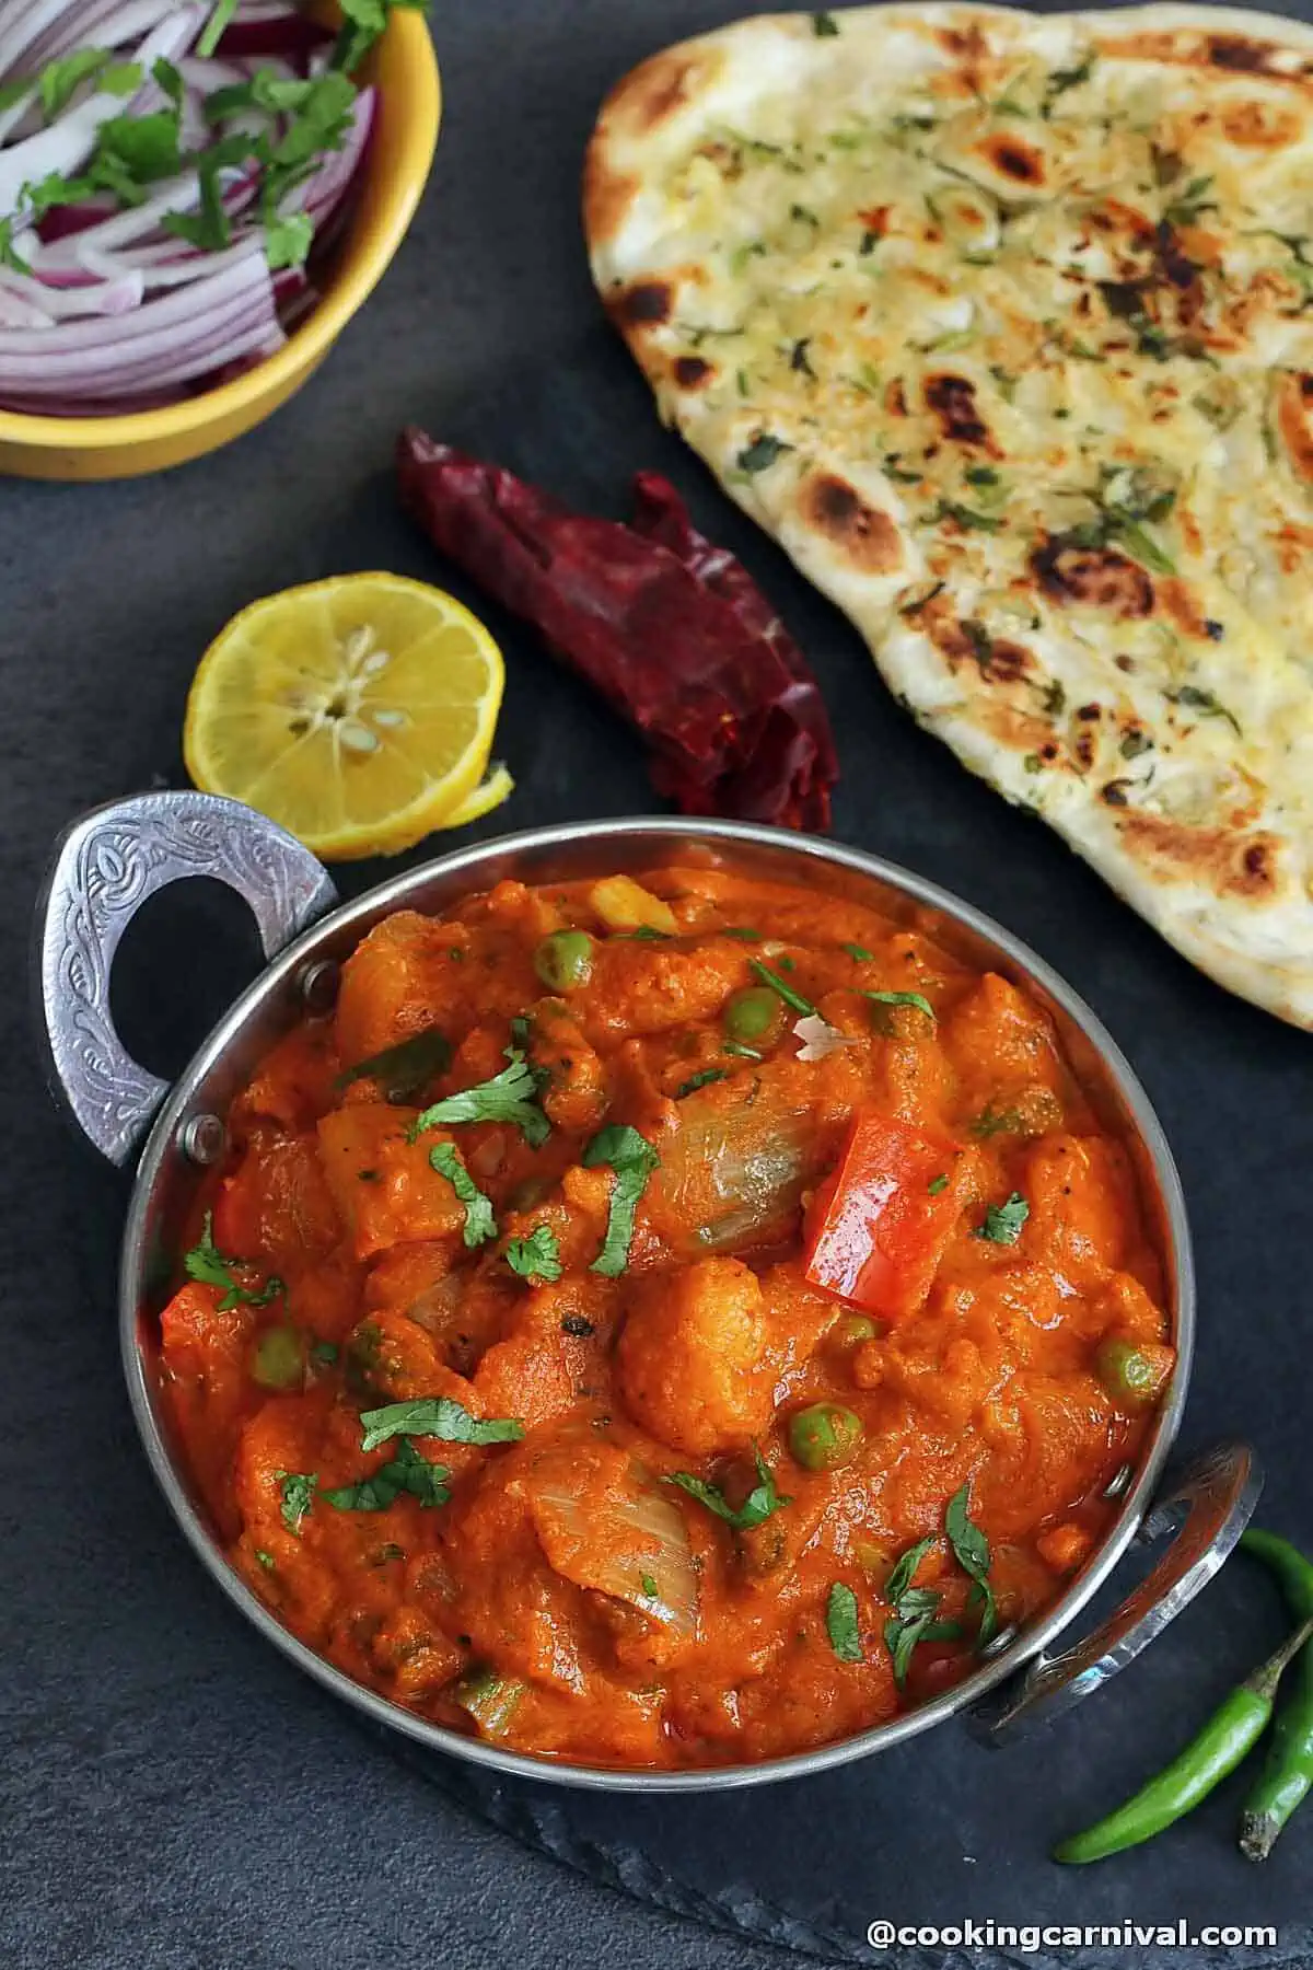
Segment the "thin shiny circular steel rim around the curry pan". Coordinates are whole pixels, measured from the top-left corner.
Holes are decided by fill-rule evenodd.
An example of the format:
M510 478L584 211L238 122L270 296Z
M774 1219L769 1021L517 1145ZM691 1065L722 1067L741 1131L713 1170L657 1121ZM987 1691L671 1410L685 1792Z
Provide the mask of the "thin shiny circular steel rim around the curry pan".
M219 1541L193 1503L187 1483L179 1476L177 1460L173 1458L156 1412L152 1363L140 1338L150 1202L161 1178L165 1158L177 1152L179 1131L185 1123L187 1111L195 1105L195 1087L219 1064L232 1040L238 1038L252 1013L270 1001L281 987L287 987L293 981L305 961L315 955L317 946L321 946L325 938L337 940L343 934L356 930L356 926L364 926L366 920L376 920L380 914L404 908L407 900L411 900L411 894L435 875L451 879L469 871L470 877L476 879L482 865L512 853L541 853L561 847L567 849L575 843L587 845L606 843L610 839L622 841L624 837L634 835L669 841L671 847L681 843L693 847L697 841L707 841L730 849L734 845L746 845L772 851L791 851L803 869L807 861L813 861L831 867L837 865L858 877L874 879L900 890L913 902L941 912L955 924L961 924L967 932L992 944L1020 971L1024 971L1026 977L1032 979L1067 1018L1073 1020L1073 1024L1096 1050L1148 1154L1154 1180L1159 1190L1161 1231L1165 1257L1171 1267L1169 1306L1177 1347L1173 1377L1167 1395L1156 1412L1150 1440L1140 1452L1136 1476L1120 1501L1118 1515L1071 1586L1059 1594L1057 1600L1033 1623L1030 1623L1008 1649L990 1657L970 1676L931 1702L921 1704L915 1710L907 1710L886 1724L874 1724L850 1738L841 1738L835 1743L817 1745L809 1751L793 1751L785 1757L762 1759L752 1765L707 1765L671 1771L652 1767L583 1765L569 1759L555 1761L535 1757L528 1751L502 1751L480 1738L465 1738L461 1732L433 1724L417 1712L406 1710L402 1704L394 1704L390 1698L356 1682L283 1627L283 1623L244 1584L228 1562ZM474 886L474 883L470 886ZM118 1298L124 1377L138 1432L142 1436L148 1462L156 1474L156 1481L159 1483L183 1537L209 1576L222 1588L238 1611L244 1613L246 1619L252 1621L256 1629L281 1651L281 1655L285 1655L297 1669L313 1676L323 1688L344 1698L374 1724L398 1730L402 1736L427 1749L451 1753L469 1763L482 1765L488 1771L502 1773L504 1777L569 1785L587 1791L638 1795L732 1791L768 1785L780 1779L811 1777L815 1773L852 1763L854 1759L870 1757L876 1751L892 1749L896 1743L904 1743L906 1740L931 1730L935 1724L943 1724L951 1716L978 1704L980 1698L984 1698L1008 1676L1014 1676L1020 1669L1043 1657L1049 1643L1077 1619L1081 1609L1106 1582L1140 1529L1181 1422L1195 1342L1195 1263L1185 1196L1171 1149L1167 1147L1161 1123L1157 1121L1150 1097L1140 1085L1130 1062L1112 1040L1098 1015L1085 1003L1075 987L1071 987L1061 973L1057 973L1047 959L1039 957L1039 953L1033 952L1022 938L994 922L994 918L986 912L955 896L939 883L919 877L898 863L886 861L878 855L868 855L862 849L823 841L815 835L801 835L791 829L764 827L746 821L701 820L697 816L630 816L604 821L563 821L545 827L522 829L510 835L496 835L488 841L470 843L469 847L455 849L449 855L439 855L433 861L419 863L413 869L390 877L388 881L366 890L362 896L329 910L315 924L311 924L309 930L301 932L301 936L297 936L270 965L266 965L264 971L260 971L246 991L240 993L240 997L211 1030L207 1040L197 1048L193 1060L165 1097L136 1170L132 1202L124 1223Z

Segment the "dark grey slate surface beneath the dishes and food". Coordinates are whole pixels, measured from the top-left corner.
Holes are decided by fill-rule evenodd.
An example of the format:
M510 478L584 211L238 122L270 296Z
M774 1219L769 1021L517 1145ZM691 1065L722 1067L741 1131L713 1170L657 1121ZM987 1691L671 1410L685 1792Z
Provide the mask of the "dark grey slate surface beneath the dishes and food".
M195 658L242 603L350 567L439 573L388 481L392 433L417 418L612 512L630 471L663 465L744 552L827 686L844 764L837 833L1004 918L1087 993L1142 1072L1181 1160L1203 1277L1185 1440L1250 1436L1270 1470L1264 1519L1313 1541L1309 1040L1191 973L892 707L839 617L657 429L596 321L575 219L596 100L642 53L732 12L719 0L439 8L449 114L429 197L305 394L264 431L154 483L0 491L6 1970L782 1960L657 1909L835 1962L874 1960L860 1937L876 1917L1276 1923L1276 1946L1161 1960L1313 1962L1313 1818L1268 1870L1246 1868L1230 1844L1236 1781L1140 1854L1087 1872L1045 1860L1055 1832L1163 1757L1278 1633L1266 1582L1242 1564L1118 1688L1032 1745L990 1755L947 1728L789 1789L620 1805L394 1757L220 1604L132 1434L112 1316L124 1184L49 1111L24 1003L39 867L77 810L181 778ZM506 648L502 749L520 792L482 831L648 808L624 733L526 638L508 632ZM344 886L378 873L346 871ZM175 894L156 908L116 981L126 1028L152 1034L150 1064L181 1066L254 967L226 900ZM469 1803L594 1879L488 1832ZM907 1960L1047 1956L917 1948ZM1077 1960L1130 1954L1094 1946Z

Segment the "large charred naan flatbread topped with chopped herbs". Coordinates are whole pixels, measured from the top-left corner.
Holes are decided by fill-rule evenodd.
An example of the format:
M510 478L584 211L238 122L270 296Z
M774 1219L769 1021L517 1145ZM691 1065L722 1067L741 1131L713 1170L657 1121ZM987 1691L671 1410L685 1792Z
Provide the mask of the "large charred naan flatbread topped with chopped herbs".
M1313 1026L1313 30L748 20L618 85L585 213L663 414L913 717Z

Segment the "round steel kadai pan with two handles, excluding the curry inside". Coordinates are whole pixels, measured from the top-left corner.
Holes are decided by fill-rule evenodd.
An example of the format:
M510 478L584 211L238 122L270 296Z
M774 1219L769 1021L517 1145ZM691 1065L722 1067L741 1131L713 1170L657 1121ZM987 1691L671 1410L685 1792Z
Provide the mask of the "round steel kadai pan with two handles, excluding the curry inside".
M1053 1017L1102 1119L1138 1162L1165 1261L1177 1367L1140 1462L1118 1478L1120 1509L1102 1543L1053 1606L1004 1631L953 1690L890 1724L791 1757L699 1771L616 1771L502 1751L431 1724L352 1682L281 1627L228 1566L171 1440L157 1381L157 1312L187 1206L205 1168L224 1154L228 1103L264 1050L307 1007L331 1007L343 959L374 924L398 908L445 912L508 877L543 883L614 871L642 875L669 861L872 904L1033 993ZM114 948L146 896L195 875L217 877L246 898L270 963L215 1026L177 1085L167 1087L128 1058L110 1018L108 981ZM63 835L37 942L55 1089L96 1149L124 1166L136 1160L118 1286L120 1334L132 1409L159 1489L205 1570L276 1649L374 1722L429 1749L561 1785L699 1793L825 1771L957 1716L980 1738L1004 1741L1067 1710L1138 1655L1217 1572L1254 1509L1262 1479L1244 1444L1220 1444L1167 1470L1189 1383L1195 1280L1181 1182L1144 1089L1091 1009L1033 952L904 869L770 827L622 820L541 827L457 849L339 906L315 857L250 808L211 794L140 794L87 814ZM1071 1639L1091 1596L1134 1539L1161 1539L1165 1550L1112 1615Z

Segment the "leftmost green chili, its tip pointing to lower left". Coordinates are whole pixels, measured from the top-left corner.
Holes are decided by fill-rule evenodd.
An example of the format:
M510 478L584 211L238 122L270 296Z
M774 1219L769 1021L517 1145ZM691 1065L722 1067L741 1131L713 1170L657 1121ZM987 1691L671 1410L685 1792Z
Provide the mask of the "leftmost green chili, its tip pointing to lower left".
M1083 1866L1102 1860L1106 1854L1120 1854L1128 1846L1140 1846L1154 1834L1173 1826L1185 1812L1209 1797L1226 1773L1234 1771L1240 1759L1258 1743L1272 1716L1282 1671L1303 1649L1313 1635L1313 1615L1295 1629L1287 1641L1268 1657L1268 1661L1246 1676L1244 1682L1224 1698L1203 1730L1179 1751L1165 1771L1142 1785L1140 1791L1106 1818L1089 1826L1083 1834L1073 1834L1053 1848L1053 1860Z

